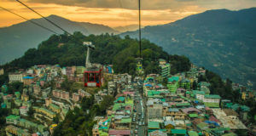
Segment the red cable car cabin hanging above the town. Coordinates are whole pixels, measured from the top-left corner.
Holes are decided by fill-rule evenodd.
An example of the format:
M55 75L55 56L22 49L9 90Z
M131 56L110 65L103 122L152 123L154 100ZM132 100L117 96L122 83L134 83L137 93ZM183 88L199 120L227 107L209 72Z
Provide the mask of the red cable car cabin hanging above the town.
M101 87L102 69L84 71L84 87Z

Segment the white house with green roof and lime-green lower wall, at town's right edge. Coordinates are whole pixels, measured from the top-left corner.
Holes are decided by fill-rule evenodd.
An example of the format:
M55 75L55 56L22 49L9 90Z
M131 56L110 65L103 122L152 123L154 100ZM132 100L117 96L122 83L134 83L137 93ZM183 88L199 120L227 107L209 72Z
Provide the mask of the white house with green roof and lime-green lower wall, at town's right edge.
M216 94L205 95L203 102L204 105L210 108L218 108L220 102L220 96Z

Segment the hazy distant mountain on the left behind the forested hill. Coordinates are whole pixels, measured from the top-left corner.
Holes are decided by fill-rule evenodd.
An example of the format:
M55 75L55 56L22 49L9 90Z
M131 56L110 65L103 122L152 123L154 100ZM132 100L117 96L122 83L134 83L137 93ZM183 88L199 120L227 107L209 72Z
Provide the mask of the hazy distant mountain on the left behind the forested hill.
M57 15L49 15L47 19L55 22L55 24L61 26L70 33L73 33L73 31L81 31L84 35L98 35L106 32L118 32L114 31L108 26L91 24L88 22L75 22L72 20L64 19ZM49 24L49 22L42 18L34 19L33 21L51 30L54 30L59 34L63 33L63 31ZM29 21L25 21L9 27L0 28L0 65L20 57L26 52L28 48L37 47L39 42L47 39L52 34L52 32L35 26Z

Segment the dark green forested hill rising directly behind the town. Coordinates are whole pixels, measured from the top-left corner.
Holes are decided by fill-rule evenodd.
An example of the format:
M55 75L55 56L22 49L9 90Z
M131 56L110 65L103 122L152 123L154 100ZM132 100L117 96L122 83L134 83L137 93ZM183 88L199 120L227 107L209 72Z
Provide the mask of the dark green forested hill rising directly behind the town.
M19 59L15 59L6 65L0 65L4 71L16 71L26 69L32 65L84 65L86 47L83 41L90 41L96 46L91 51L90 60L102 65L113 65L116 73L135 74L138 57L138 41L130 37L104 34L84 36L81 32L74 32L73 36L62 34L53 35L48 40L41 42L38 48L30 48ZM145 73L158 72L158 59L170 59L173 72L189 71L190 61L184 56L169 55L159 46L148 40L143 40L142 48L143 68Z

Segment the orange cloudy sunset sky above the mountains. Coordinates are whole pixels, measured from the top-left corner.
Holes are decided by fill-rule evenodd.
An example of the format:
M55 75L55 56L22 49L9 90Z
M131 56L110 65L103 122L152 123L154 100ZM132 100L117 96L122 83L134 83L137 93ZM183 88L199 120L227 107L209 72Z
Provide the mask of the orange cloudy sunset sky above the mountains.
M129 26L138 22L138 0L20 0L44 16L59 15L68 20L90 22L106 26ZM38 14L15 0L0 0L0 7L27 19L40 18ZM256 7L256 0L141 0L142 25L154 26L183 19L210 9ZM0 8L0 27L25 20Z

